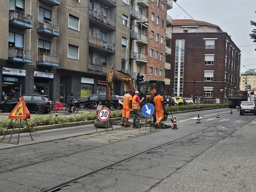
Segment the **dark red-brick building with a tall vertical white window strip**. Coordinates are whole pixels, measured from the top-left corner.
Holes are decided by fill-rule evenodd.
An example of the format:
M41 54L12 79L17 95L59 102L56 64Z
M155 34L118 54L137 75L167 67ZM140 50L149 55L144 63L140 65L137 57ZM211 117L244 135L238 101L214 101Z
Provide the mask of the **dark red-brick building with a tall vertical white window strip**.
M239 90L240 50L219 26L173 20L170 79L172 95L195 101L225 100Z

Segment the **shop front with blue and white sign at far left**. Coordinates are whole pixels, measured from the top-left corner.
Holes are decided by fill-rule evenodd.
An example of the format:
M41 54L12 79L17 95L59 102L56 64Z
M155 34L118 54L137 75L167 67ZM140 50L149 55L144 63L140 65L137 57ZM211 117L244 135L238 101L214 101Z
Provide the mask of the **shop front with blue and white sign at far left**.
M2 101L16 99L22 94L22 78L26 70L3 67Z

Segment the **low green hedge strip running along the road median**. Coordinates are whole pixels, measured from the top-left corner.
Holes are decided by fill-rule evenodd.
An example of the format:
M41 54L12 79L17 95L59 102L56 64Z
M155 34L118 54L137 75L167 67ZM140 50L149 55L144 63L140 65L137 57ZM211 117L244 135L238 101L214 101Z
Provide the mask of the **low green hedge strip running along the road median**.
M204 109L204 108L219 108L219 107L228 107L228 104L200 104L200 105L179 105L179 106L170 106L166 107L166 112L174 112L174 111L187 111L187 110L195 110L195 109ZM111 111L110 118L121 117L122 110L113 110ZM55 125L55 124L64 124L70 122L79 122L86 120L94 120L96 119L96 111L88 112L88 113L78 113L76 115L65 115L58 116L55 115L36 115L31 117L31 119L27 119L30 128L43 126L43 125ZM12 121L10 128L13 128L15 119ZM4 130L9 126L11 119L1 119L0 120L0 130ZM16 122L16 126L19 126L20 120L18 119ZM26 121L21 121L21 127L27 127ZM18 128L18 127L17 127Z

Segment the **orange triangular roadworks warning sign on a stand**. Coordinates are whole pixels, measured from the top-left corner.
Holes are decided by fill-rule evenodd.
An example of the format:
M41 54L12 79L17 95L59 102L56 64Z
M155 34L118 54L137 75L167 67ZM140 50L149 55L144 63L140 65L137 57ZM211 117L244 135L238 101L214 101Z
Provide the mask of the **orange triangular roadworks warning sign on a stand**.
M21 97L21 100L10 113L8 119L30 119L30 113L25 105L24 97Z

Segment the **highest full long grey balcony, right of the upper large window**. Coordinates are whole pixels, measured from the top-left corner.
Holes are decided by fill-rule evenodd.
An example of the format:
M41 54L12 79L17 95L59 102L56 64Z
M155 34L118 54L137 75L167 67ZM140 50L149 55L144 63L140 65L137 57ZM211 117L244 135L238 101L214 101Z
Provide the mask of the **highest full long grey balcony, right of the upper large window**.
M104 25L110 30L115 30L116 22L115 20L104 16L103 14L90 9L89 10L89 18L92 20L96 25Z

